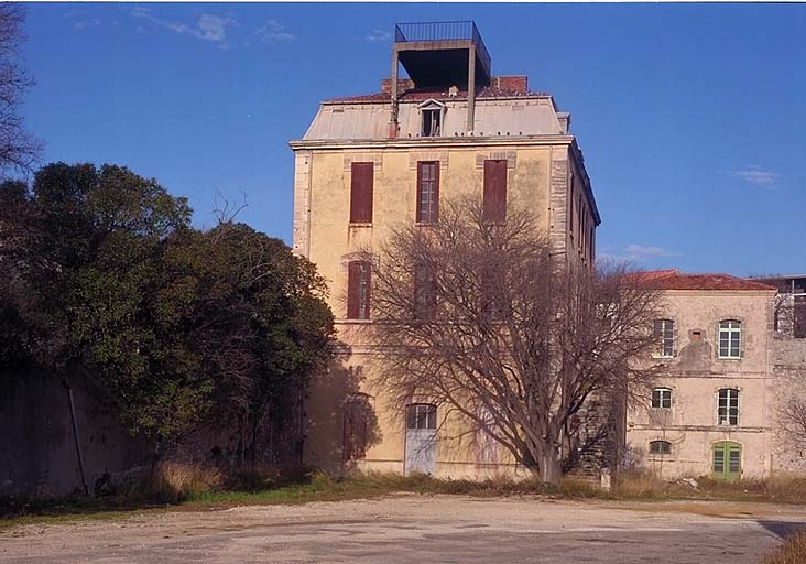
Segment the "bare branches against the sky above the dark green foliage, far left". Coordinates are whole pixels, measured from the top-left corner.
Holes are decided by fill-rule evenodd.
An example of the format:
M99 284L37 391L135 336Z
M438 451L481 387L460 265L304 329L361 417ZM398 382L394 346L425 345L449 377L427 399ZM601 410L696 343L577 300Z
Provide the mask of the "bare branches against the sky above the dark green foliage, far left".
M15 3L0 3L0 172L30 172L42 143L25 131L20 116L22 96L33 79L20 64L23 40L23 9Z

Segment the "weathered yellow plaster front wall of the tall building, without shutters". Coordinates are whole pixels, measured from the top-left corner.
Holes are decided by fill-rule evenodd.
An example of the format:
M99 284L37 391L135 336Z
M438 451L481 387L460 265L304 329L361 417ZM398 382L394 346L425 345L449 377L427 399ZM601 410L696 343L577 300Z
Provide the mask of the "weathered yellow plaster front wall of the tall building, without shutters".
M552 159L560 159L565 173ZM531 209L548 232L552 221L565 221L565 199L549 197L549 186L567 194L567 148L565 145L484 145L432 147L405 149L350 150L314 149L297 151L295 205L295 251L307 254L317 264L330 288L329 303L337 317L339 339L347 351L312 387L307 402L308 432L305 460L341 471L351 467L403 471L405 424L402 410L389 404L389 398L374 383L375 370L371 347L362 343L360 327L366 322L347 321L347 263L351 253L363 246L377 247L393 227L415 220L416 164L439 161L440 203L460 194L477 194L483 187L484 159L508 160L508 200ZM350 163L373 162L373 216L371 226L350 226ZM559 225L565 229L565 223ZM358 330L357 330L358 329ZM358 376L360 375L360 377ZM378 433L366 459L341 460L344 399L359 390L372 397ZM446 419L446 415L447 419ZM511 455L484 443L483 436L467 433L461 417L438 408L440 429L437 442L436 474L440 476L486 476L518 473Z

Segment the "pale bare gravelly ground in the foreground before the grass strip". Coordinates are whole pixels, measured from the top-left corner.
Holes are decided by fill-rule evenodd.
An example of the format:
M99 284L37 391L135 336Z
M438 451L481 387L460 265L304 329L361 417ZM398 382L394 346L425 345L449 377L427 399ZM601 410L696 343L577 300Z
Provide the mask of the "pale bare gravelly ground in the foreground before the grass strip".
M806 510L393 496L0 532L3 563L758 563Z

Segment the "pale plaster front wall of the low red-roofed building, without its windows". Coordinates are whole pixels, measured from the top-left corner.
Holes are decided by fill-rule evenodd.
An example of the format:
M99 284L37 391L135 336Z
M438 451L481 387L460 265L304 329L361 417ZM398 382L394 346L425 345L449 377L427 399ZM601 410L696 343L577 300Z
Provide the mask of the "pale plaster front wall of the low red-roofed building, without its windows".
M719 441L742 445L744 477L772 469L774 380L772 372L772 292L667 291L664 316L675 322L676 350L658 387L672 389L669 410L652 409L650 398L628 412L628 466L653 469L664 477L701 476L711 471L711 448ZM717 325L742 322L740 359L718 358ZM700 332L697 339L694 332ZM717 394L734 388L739 424L719 425ZM651 441L668 441L672 454L651 455Z

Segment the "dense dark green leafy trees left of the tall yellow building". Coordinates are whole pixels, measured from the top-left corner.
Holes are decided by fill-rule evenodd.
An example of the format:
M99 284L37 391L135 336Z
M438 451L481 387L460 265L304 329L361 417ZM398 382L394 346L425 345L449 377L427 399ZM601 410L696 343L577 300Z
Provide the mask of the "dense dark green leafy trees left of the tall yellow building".
M166 445L237 422L242 459L326 362L333 315L315 268L126 167L55 163L0 186L0 364L95 380L132 432ZM8 329L8 330L7 330Z

